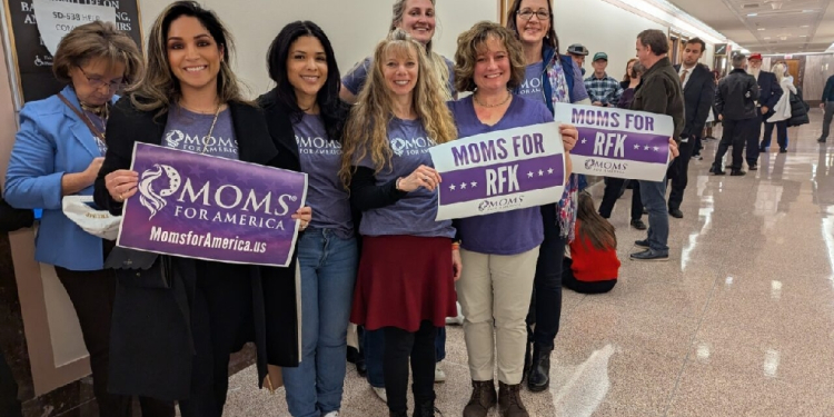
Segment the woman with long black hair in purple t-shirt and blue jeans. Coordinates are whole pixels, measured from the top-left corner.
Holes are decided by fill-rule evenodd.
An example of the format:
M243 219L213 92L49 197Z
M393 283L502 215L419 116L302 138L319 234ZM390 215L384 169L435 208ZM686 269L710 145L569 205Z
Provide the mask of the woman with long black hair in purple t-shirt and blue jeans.
M307 172L307 202L316 212L298 240L301 364L284 369L287 405L294 417L335 417L358 262L350 197L339 179L348 107L339 100L332 47L316 23L287 24L269 48L268 66L277 87L258 103L281 146L279 157Z

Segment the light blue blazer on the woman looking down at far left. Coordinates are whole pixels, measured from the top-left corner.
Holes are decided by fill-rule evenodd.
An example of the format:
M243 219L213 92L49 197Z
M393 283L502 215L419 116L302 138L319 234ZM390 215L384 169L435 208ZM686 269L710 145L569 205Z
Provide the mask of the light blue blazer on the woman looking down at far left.
M80 109L70 87L61 93ZM113 97L113 102L117 100ZM90 129L58 96L28 102L6 171L6 201L21 209L43 209L34 259L70 270L103 268L101 238L83 231L61 210L61 178L82 172L101 157ZM93 186L78 195L91 196Z

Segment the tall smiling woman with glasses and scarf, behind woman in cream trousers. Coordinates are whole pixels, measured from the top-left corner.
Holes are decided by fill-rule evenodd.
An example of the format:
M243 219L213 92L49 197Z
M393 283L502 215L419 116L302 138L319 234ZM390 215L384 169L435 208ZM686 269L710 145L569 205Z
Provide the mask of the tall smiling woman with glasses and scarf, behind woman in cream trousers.
M507 28L522 41L527 64L516 95L546 105L550 113L558 103L590 105L582 71L569 56L559 53L550 1L515 0L507 13ZM524 361L527 387L534 393L550 384L550 351L562 315L562 258L574 236L578 177L570 176L559 202L542 206L545 239L536 262Z

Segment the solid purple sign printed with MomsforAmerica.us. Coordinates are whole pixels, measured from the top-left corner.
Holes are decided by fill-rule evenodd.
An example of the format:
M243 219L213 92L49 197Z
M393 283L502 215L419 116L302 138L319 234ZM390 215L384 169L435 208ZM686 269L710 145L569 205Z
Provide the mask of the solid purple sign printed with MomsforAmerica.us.
M125 203L118 246L289 265L299 227L290 216L307 198L306 173L139 142L131 169L139 191Z

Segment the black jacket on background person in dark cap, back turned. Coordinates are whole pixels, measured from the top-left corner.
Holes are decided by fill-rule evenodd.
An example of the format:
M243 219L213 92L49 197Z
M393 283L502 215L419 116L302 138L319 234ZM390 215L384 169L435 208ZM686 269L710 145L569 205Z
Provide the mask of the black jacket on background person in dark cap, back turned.
M756 79L743 69L734 69L718 82L715 110L726 120L745 120L759 116Z

